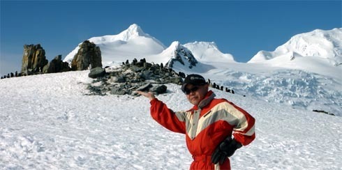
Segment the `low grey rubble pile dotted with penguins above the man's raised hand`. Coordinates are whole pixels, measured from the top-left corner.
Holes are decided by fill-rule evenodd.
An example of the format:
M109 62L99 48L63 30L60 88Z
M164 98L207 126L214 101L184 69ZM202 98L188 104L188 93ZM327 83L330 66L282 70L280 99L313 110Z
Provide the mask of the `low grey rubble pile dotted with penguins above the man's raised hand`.
M163 63L147 63L145 59L131 63L127 60L117 68L93 68L89 77L94 78L88 84L87 95L137 95L135 91L166 93L164 84L181 84L184 73L164 67Z

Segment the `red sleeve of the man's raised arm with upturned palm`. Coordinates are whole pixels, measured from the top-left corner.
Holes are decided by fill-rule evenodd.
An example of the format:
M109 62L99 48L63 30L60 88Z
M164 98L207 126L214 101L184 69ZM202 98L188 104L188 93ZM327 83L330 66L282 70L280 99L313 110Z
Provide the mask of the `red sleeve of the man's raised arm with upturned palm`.
M156 122L172 132L186 133L183 112L175 113L158 99L151 100L151 116Z

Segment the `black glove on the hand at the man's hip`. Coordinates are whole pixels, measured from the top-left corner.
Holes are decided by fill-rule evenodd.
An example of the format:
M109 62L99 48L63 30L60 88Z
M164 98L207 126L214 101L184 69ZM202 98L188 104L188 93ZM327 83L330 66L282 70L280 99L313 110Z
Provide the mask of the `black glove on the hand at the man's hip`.
M235 150L241 148L241 146L242 144L240 144L238 141L228 137L214 150L213 155L211 155L211 162L213 164L217 164L217 162L223 164L223 162L225 162L228 157L231 157L235 153Z

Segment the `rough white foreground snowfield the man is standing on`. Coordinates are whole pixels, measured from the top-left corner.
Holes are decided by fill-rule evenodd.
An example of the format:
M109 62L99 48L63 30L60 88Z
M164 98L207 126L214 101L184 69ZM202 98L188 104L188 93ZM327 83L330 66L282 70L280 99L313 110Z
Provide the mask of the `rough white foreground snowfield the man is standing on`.
M1 79L0 169L188 169L184 134L154 122L147 98L87 95L88 73ZM159 99L191 107L180 86L167 86ZM213 91L256 118L256 139L232 169L341 169L341 117Z

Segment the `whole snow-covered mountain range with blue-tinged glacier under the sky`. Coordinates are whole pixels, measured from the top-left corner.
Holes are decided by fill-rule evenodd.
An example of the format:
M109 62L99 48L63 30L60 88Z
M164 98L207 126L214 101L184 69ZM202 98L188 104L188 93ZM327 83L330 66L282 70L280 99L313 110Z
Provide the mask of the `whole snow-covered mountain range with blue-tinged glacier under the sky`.
M240 95L342 116L342 65L336 65L342 58L341 30L298 34L274 52L258 52L248 63L235 62L214 42L172 42L165 47L137 24L118 35L89 40L101 47L105 66L140 57L147 62L173 63L177 72L199 73ZM64 61L72 59L77 48Z

